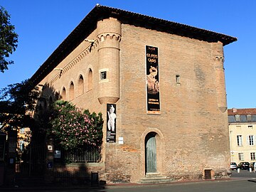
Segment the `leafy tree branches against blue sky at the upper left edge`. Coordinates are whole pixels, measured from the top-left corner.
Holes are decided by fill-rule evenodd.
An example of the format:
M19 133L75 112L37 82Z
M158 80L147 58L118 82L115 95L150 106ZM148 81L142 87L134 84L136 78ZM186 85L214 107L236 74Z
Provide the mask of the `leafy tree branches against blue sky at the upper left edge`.
M10 54L14 53L18 46L18 34L14 32L15 27L9 21L10 15L0 6L0 71L8 70L8 65L14 63L13 60L7 60Z

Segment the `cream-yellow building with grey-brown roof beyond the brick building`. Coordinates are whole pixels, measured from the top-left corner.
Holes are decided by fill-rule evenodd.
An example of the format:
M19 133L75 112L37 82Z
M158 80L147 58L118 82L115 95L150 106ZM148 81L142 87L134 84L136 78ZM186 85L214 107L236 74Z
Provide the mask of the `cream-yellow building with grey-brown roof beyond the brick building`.
M256 109L228 110L231 161L255 162Z

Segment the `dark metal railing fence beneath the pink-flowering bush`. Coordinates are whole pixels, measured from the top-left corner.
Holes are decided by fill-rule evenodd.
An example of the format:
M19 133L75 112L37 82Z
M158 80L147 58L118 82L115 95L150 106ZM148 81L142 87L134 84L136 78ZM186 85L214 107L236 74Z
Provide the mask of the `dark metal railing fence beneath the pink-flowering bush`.
M101 160L101 147L87 146L73 150L60 149L60 160L68 163L97 163Z

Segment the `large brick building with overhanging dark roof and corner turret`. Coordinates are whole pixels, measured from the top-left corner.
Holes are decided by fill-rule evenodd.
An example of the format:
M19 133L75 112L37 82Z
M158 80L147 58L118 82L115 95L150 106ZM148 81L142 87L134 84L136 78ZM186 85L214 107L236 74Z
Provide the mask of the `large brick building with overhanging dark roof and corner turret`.
M105 119L100 179L227 176L223 46L236 38L95 6L36 71L47 102Z

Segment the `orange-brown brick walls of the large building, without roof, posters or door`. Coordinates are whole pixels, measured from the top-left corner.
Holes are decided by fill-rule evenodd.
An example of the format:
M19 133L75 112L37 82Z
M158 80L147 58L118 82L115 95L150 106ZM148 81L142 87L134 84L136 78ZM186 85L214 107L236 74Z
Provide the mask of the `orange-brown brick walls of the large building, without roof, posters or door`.
M113 30L117 31L118 21L107 23L112 23ZM106 32L104 36L112 34L111 25L101 27L100 33ZM102 42L99 39L91 52L85 51L83 55L83 50L90 43L82 42L58 67L67 68L81 55L79 60L60 78L52 81L54 89L59 92L63 86L68 92L70 82L74 82L75 99L71 102L90 111L102 112L104 134L106 102L117 101L117 142L106 143L104 136L104 172L100 176L108 183L139 182L145 176L144 139L149 132L156 133L159 174L176 179L192 179L202 178L204 169L210 169L216 175L226 176L230 154L223 60L219 58L223 57L222 44L127 24L122 24L119 33L122 33L121 41L112 38L115 42L113 45L116 48L119 46L119 50L115 51L119 55L114 56L113 65L112 57L105 56L108 60L100 61L98 48ZM97 36L96 30L88 38L97 39ZM112 41L109 41L110 45ZM159 48L160 115L146 114L145 46ZM113 54L109 51L100 54L105 53ZM115 66L118 64L117 58L118 70ZM99 82L102 62L105 62L104 68L110 68L110 77L114 78L112 73L119 71L119 79L115 79L112 85L106 84L106 87ZM107 63L109 65L106 67ZM89 68L93 74L92 90L86 90ZM56 73L50 73L41 84L50 82ZM80 74L85 80L85 92L78 96L76 87ZM176 84L176 75L180 75L180 84ZM112 90L113 95L107 95ZM98 97L103 97L102 94L106 97L100 104ZM111 96L119 97L119 100L108 100ZM118 143L119 137L124 138L124 144Z

